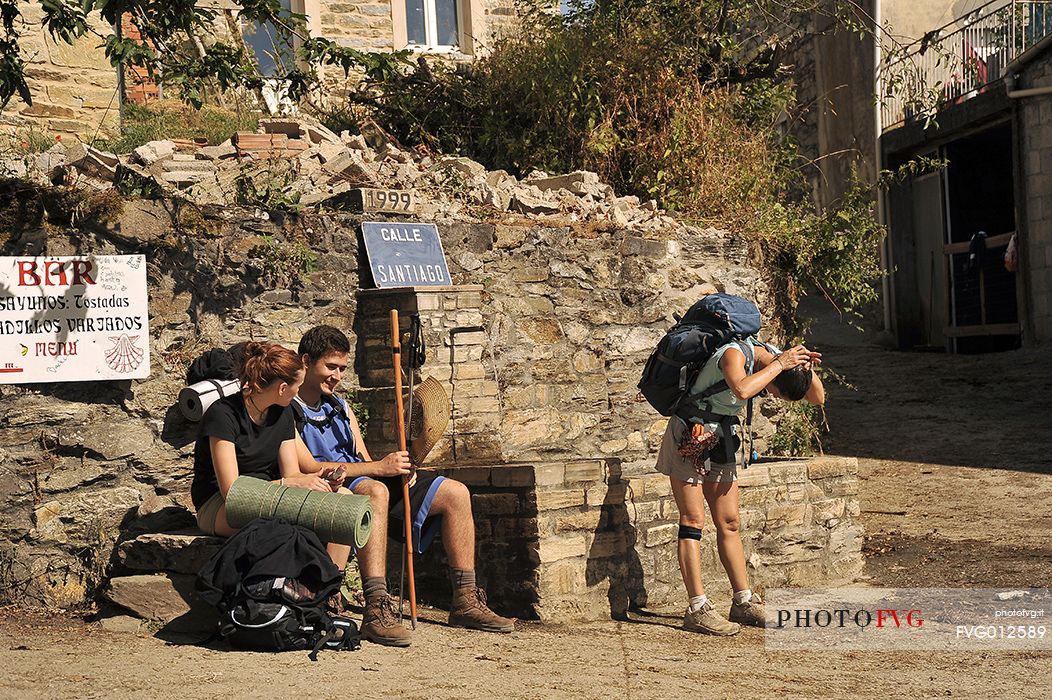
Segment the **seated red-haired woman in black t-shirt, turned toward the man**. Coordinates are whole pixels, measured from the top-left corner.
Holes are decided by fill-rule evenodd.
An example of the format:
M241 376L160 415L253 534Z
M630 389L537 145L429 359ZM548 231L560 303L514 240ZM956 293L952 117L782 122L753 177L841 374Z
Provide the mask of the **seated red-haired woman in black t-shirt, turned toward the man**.
M332 491L325 475L299 467L289 404L303 383L300 357L274 343L246 342L238 376L241 392L208 407L194 447L190 498L198 527L221 537L237 532L226 520L226 493L239 476Z

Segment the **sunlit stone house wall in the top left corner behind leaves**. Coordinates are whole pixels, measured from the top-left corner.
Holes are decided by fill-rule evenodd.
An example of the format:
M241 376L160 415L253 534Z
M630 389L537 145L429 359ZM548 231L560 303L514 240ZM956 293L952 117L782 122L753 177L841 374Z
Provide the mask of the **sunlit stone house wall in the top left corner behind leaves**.
M89 137L100 126L116 126L120 119L117 69L98 48L98 36L88 34L73 45L57 42L40 28L43 11L39 3L22 0L19 12L26 23L19 49L33 105L13 98L0 111L0 132L32 128L49 138ZM108 25L98 19L92 28L109 33Z

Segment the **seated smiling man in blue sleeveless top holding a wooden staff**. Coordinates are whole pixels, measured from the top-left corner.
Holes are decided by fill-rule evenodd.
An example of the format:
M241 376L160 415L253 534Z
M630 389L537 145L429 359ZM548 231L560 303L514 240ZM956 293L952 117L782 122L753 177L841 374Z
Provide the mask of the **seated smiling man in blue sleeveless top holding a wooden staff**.
M308 331L300 340L306 376L294 408L302 436L297 441L300 469L313 473L342 466L350 489L369 496L372 502L372 534L358 553L365 593L363 635L381 644L409 644L408 631L394 618L385 577L388 532L404 540L403 475L412 475L409 503L417 553L422 554L437 534L446 548L453 587L449 624L485 632L514 631L514 620L490 611L485 592L474 582L474 520L467 486L432 472L417 472L406 452L378 461L369 456L355 414L335 394L349 353L350 341L338 328L320 325Z

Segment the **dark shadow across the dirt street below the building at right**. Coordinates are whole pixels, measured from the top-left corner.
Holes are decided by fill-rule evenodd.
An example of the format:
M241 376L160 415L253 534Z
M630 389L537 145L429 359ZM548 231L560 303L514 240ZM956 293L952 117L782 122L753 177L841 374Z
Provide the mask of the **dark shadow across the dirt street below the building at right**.
M811 299L809 344L843 383L827 381L826 452L859 458L1052 474L1052 362L1019 349L906 353Z

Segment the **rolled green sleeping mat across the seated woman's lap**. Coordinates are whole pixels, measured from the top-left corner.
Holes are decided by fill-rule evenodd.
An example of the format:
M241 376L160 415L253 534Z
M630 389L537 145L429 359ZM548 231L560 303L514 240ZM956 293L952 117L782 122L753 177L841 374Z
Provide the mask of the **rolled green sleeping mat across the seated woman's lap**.
M256 518L281 518L303 525L323 542L365 546L372 529L368 496L289 488L262 479L238 477L226 494L226 520L244 527Z

